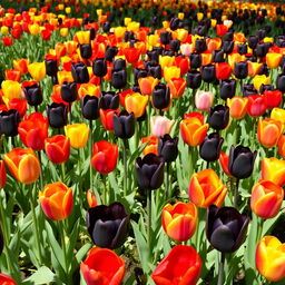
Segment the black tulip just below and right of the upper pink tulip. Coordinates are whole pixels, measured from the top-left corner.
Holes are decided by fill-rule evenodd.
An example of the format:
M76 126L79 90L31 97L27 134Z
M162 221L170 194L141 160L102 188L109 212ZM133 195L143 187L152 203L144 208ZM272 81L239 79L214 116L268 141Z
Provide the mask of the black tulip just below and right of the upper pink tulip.
M217 105L209 110L209 126L216 130L225 129L229 120L229 108Z

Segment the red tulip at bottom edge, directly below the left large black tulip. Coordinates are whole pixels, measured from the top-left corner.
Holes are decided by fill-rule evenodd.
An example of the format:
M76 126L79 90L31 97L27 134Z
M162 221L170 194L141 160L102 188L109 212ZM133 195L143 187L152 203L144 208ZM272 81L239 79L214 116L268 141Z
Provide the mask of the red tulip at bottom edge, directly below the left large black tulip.
M108 248L94 247L80 264L87 285L120 285L125 275L125 261Z

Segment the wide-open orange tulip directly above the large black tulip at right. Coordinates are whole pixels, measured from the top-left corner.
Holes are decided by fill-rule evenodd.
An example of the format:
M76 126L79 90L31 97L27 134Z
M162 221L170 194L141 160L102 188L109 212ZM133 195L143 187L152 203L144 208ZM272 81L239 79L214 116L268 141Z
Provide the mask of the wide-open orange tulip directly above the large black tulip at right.
M213 169L204 169L194 174L189 184L189 198L198 207L209 205L220 207L227 195L227 187L219 180Z

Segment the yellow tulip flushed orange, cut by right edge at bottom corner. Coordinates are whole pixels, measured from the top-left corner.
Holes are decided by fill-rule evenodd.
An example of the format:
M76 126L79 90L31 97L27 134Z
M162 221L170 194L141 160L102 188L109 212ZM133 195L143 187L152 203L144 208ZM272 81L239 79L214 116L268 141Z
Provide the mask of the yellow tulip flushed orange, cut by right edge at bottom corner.
M264 236L256 246L256 268L268 281L277 282L285 278L284 245L275 236Z

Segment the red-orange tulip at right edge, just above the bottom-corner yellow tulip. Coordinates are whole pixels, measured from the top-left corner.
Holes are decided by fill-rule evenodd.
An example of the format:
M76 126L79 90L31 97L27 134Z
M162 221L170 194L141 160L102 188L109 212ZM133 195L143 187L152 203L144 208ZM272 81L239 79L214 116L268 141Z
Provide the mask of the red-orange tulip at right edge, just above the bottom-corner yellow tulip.
M253 186L250 207L261 218L274 218L278 215L284 198L284 190L269 180L259 180Z

